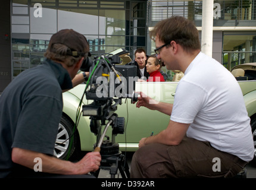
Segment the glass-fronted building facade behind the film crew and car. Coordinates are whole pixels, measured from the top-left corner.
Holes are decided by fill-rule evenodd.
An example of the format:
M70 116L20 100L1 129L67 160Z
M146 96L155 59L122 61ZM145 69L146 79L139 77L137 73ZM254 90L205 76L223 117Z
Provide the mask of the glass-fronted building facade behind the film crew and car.
M256 1L214 1L213 58L227 69L256 62ZM2 2L0 93L20 72L43 61L49 39L61 29L85 35L94 55L155 44L149 30L173 15L195 21L201 36L201 1L10 0Z

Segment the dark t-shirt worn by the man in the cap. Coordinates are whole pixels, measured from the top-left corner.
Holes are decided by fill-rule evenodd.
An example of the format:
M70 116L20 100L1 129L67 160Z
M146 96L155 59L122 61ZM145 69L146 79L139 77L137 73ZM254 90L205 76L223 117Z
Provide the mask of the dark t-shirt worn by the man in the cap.
M62 89L72 88L67 70L46 59L21 72L0 96L0 178L22 171L11 160L12 148L54 154Z

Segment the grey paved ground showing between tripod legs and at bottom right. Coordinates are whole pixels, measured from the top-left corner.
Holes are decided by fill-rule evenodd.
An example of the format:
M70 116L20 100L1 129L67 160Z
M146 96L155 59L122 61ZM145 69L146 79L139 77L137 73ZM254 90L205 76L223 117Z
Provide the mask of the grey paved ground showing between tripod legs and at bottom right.
M133 153L127 153L127 163L129 164L130 168L130 162L132 160ZM252 163L249 163L246 166L247 169L247 178L256 178L256 166L254 166ZM117 174L119 171L117 172ZM110 171L109 170L100 170L98 178L111 178ZM121 178L121 175L115 175L115 178Z

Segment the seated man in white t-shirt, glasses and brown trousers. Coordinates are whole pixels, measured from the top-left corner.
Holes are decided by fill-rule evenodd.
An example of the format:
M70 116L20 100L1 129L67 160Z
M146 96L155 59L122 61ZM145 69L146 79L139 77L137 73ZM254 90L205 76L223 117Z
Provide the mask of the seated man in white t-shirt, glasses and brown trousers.
M164 131L139 142L131 177L235 176L254 157L239 84L223 65L200 51L192 21L179 16L160 21L151 37L158 59L185 76L177 85L173 104L149 104L152 99L142 93L138 98L137 107L166 113L170 122Z

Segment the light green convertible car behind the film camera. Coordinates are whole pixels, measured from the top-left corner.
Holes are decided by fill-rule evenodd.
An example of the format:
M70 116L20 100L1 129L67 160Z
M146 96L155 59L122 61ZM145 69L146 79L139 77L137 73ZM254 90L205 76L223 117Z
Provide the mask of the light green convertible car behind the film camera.
M239 76L240 78L238 77L238 83L243 92L248 116L251 118L252 134L255 136L256 81L249 80L250 77L245 77L246 71L248 71L250 74L255 72L256 78L256 63L238 65L234 67L232 71L238 69L237 67L239 67L240 71L241 69L244 69L243 71L245 71L243 76ZM135 91L143 91L143 93L160 102L173 103L178 83L179 81L136 83ZM89 105L93 102L93 100L86 100L86 96L84 96L85 87L86 84L80 84L63 93L63 116L61 118L59 133L55 144L55 156L60 159L65 159L67 156L70 157L72 154L79 151L93 151L93 145L96 143L96 135L90 130L90 116L80 116L77 130L73 134L74 125L77 123L77 113L82 112L82 107L77 112L80 100L83 97L83 105ZM163 131L163 129L167 127L170 116L154 110L149 110L145 107L140 107L138 109L135 104L131 103L130 99L121 100L121 105L118 105L117 110L115 111L118 117L123 117L125 119L124 134L117 134L115 137L115 142L119 144L121 151L136 151L141 138L148 137L152 132L158 134L158 132ZM102 129L104 129L104 126ZM71 135L73 137L72 143L70 138ZM111 138L111 128L108 129L107 135ZM71 146L68 150L68 145L70 145L70 143Z

